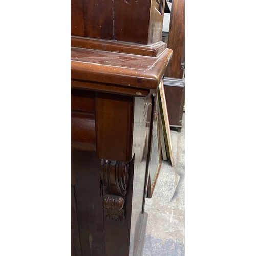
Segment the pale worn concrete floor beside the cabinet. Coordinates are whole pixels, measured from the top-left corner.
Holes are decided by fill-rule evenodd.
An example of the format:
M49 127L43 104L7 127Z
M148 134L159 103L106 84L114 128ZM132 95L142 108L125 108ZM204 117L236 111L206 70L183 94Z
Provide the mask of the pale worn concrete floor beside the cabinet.
M148 214L143 256L184 256L185 113L181 133L171 131L174 167L162 161Z

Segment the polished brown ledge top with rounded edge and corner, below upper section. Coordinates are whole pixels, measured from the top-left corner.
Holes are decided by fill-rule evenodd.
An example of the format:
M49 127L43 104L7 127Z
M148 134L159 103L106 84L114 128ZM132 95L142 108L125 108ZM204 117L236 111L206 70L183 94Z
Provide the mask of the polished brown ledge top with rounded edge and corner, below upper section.
M156 89L173 51L157 57L71 47L71 80Z

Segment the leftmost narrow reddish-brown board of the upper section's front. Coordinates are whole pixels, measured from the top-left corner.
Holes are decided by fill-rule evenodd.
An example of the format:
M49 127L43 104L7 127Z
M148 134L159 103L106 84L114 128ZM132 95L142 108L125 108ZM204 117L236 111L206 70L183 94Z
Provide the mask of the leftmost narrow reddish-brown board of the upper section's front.
M82 0L71 0L71 35L84 35Z

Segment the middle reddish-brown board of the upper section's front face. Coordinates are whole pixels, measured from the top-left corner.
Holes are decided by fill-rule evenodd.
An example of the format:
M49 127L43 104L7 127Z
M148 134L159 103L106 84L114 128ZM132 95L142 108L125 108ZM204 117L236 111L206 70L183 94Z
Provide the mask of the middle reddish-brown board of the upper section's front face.
M84 36L114 40L112 0L82 0Z

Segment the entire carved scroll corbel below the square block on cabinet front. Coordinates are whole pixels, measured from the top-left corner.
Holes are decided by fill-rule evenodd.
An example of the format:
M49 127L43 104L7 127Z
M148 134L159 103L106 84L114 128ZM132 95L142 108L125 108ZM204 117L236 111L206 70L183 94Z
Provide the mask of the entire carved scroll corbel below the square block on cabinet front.
M101 180L105 186L103 206L106 218L124 221L123 209L128 185L129 163L114 160L101 160Z

